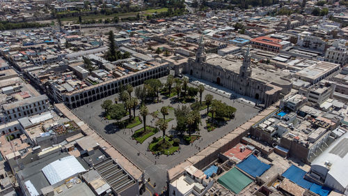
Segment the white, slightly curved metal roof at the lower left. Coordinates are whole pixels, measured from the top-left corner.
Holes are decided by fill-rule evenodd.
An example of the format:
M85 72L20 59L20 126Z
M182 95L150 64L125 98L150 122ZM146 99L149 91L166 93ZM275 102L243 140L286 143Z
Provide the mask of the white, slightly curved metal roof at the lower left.
M79 160L74 156L67 156L49 163L49 165L42 168L42 172L45 174L49 183L54 185L68 179L70 176L74 176L80 172L86 172L86 169L84 169L81 163L79 163Z

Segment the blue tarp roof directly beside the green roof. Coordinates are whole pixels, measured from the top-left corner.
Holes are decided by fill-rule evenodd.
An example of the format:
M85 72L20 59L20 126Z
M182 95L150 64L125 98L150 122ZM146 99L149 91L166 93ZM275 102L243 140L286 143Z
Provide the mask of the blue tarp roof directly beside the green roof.
M251 155L246 158L246 160L238 163L237 167L255 178L256 176L261 176L264 172L266 172L266 170L269 169L271 165L262 163L254 155Z

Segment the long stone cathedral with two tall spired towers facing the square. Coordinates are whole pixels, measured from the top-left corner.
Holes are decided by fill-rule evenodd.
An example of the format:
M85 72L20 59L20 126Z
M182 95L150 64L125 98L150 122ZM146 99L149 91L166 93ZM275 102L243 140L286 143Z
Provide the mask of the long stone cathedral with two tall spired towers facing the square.
M184 65L183 73L226 87L242 96L259 100L264 107L275 103L291 91L292 82L281 71L251 67L249 48L243 61L235 56L205 54L203 36L196 53Z

